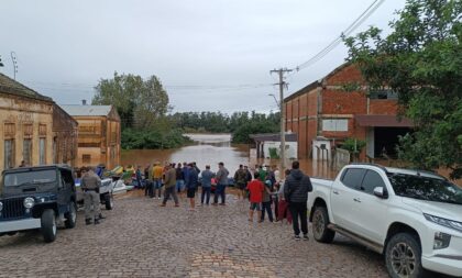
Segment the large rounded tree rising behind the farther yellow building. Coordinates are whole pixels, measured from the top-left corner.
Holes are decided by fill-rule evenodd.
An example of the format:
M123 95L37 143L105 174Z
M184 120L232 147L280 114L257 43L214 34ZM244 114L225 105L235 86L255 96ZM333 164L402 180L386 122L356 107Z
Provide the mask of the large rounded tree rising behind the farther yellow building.
M156 76L143 80L140 76L114 73L112 79L101 79L95 89L92 104L113 104L122 129L158 127L170 109L168 94Z

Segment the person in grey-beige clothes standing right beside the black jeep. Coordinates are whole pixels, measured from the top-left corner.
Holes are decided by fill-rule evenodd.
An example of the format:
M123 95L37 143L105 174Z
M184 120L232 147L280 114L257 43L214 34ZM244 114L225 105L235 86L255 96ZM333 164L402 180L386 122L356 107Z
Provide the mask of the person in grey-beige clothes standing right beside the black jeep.
M85 205L85 223L90 225L92 221L99 224L101 219L105 219L99 208L99 188L101 187L101 179L95 174L92 167L84 174L80 181L80 188L84 191ZM91 208L92 207L92 208Z

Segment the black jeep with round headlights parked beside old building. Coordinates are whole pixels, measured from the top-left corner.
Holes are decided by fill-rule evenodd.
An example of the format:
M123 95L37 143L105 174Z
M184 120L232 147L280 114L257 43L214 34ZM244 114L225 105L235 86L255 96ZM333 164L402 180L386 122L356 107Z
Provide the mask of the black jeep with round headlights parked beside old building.
M0 235L40 229L45 242L56 238L57 222L76 225L76 187L65 165L8 169L0 182Z

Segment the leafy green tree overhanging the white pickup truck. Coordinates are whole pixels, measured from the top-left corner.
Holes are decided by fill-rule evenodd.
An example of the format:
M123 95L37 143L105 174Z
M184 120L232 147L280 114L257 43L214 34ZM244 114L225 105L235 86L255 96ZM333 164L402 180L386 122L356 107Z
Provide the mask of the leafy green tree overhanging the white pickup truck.
M408 0L386 37L370 27L344 38L370 90L398 93L400 115L415 133L400 138L403 159L424 169L444 166L462 177L462 1Z

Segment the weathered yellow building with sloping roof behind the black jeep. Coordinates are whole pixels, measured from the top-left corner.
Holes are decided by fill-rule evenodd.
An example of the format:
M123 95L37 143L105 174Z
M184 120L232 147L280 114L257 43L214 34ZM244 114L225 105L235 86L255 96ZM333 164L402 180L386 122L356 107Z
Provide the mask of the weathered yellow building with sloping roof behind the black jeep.
M59 132L68 136L57 136L54 119L61 120L64 127ZM76 140L73 129L77 129L77 122L64 111L59 113L51 98L0 74L0 171L18 167L22 162L31 166L72 164L76 153L72 149ZM59 145L68 145L69 155L57 162Z

